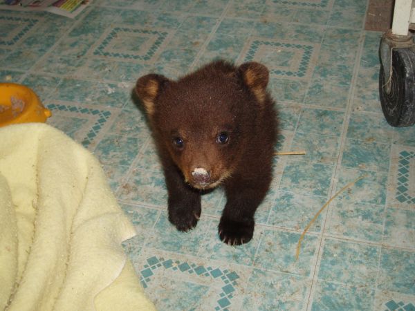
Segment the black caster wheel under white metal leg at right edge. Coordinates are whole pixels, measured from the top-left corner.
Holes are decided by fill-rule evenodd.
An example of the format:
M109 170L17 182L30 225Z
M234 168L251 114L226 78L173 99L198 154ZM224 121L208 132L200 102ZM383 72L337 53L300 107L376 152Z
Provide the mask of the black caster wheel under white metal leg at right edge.
M414 45L390 48L390 54L387 55L389 59L384 57L385 54L382 55L382 45L380 52L382 62L379 73L379 95L383 114L391 126L411 126L415 124ZM385 66L390 64L390 60L391 66L387 72Z

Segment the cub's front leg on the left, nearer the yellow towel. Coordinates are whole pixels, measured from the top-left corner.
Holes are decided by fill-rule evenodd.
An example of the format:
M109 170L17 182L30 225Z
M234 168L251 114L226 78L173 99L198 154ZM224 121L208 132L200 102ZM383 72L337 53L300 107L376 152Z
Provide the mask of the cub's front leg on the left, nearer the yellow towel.
M196 227L201 216L201 194L185 184L174 164L165 165L165 180L169 193L169 221L179 231L187 232Z

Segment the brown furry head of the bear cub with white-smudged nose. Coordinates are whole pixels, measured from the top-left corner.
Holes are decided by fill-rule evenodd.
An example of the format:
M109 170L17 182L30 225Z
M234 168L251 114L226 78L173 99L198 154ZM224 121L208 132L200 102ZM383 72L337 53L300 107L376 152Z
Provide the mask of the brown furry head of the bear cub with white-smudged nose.
M239 67L213 62L177 81L149 74L136 93L156 140L197 189L216 187L249 152L270 101L268 69L249 62Z

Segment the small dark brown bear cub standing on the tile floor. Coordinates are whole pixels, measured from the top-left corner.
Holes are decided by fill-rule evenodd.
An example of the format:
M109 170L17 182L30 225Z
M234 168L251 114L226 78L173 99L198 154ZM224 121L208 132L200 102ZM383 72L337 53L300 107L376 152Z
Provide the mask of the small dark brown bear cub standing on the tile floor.
M145 106L163 164L169 221L180 231L201 215L201 192L221 185L227 202L219 237L248 243L254 214L272 179L277 115L268 69L212 62L177 81L149 74L136 93Z

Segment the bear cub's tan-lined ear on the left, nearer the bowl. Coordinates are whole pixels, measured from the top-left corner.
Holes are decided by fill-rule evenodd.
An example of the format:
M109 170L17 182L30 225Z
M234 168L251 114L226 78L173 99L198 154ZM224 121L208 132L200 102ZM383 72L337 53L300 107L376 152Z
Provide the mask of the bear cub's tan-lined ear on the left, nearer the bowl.
M169 82L169 79L163 75L156 75L154 73L142 76L137 80L136 93L149 115L154 114L156 108L154 101L163 90L166 82Z

